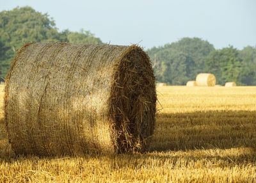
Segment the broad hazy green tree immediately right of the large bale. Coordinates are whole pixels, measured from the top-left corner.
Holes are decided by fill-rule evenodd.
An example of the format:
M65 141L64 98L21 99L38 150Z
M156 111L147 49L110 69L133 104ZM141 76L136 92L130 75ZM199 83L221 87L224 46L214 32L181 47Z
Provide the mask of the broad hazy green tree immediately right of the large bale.
M154 63L157 81L185 84L205 69L205 58L213 45L200 38L182 38L179 42L153 47L147 52Z

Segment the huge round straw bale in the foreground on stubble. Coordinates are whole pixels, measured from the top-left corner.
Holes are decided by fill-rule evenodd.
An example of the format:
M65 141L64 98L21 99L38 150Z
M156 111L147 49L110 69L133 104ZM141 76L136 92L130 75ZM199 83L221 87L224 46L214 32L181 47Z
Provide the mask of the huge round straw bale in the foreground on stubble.
M143 151L156 86L135 45L24 45L6 76L5 120L17 154Z

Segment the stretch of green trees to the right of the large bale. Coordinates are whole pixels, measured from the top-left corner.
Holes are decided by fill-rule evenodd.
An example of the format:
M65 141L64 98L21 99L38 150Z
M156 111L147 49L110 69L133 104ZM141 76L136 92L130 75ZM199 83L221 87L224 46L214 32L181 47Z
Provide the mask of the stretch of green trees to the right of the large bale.
M234 81L239 85L256 85L256 47L241 51L229 45L214 49L200 38L182 38L163 47L149 49L157 81L186 84L200 72L216 76L218 84Z

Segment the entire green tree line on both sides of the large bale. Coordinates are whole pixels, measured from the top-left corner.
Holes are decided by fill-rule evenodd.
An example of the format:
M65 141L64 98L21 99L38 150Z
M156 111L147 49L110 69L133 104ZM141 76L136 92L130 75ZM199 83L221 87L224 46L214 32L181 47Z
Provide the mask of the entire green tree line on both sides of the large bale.
M104 44L90 31L59 31L47 14L26 6L0 12L0 76L4 78L15 52L28 42L71 42ZM147 50L156 79L169 84L186 84L200 72L211 72L218 84L235 81L256 85L256 47L241 51L231 45L215 49L200 38L182 38L178 42Z

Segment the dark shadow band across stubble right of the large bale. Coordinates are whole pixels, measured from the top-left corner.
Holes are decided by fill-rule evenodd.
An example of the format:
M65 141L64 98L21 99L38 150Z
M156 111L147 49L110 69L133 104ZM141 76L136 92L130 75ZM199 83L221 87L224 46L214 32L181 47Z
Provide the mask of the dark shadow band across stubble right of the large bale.
M256 147L256 111L207 111L157 115L150 152Z

